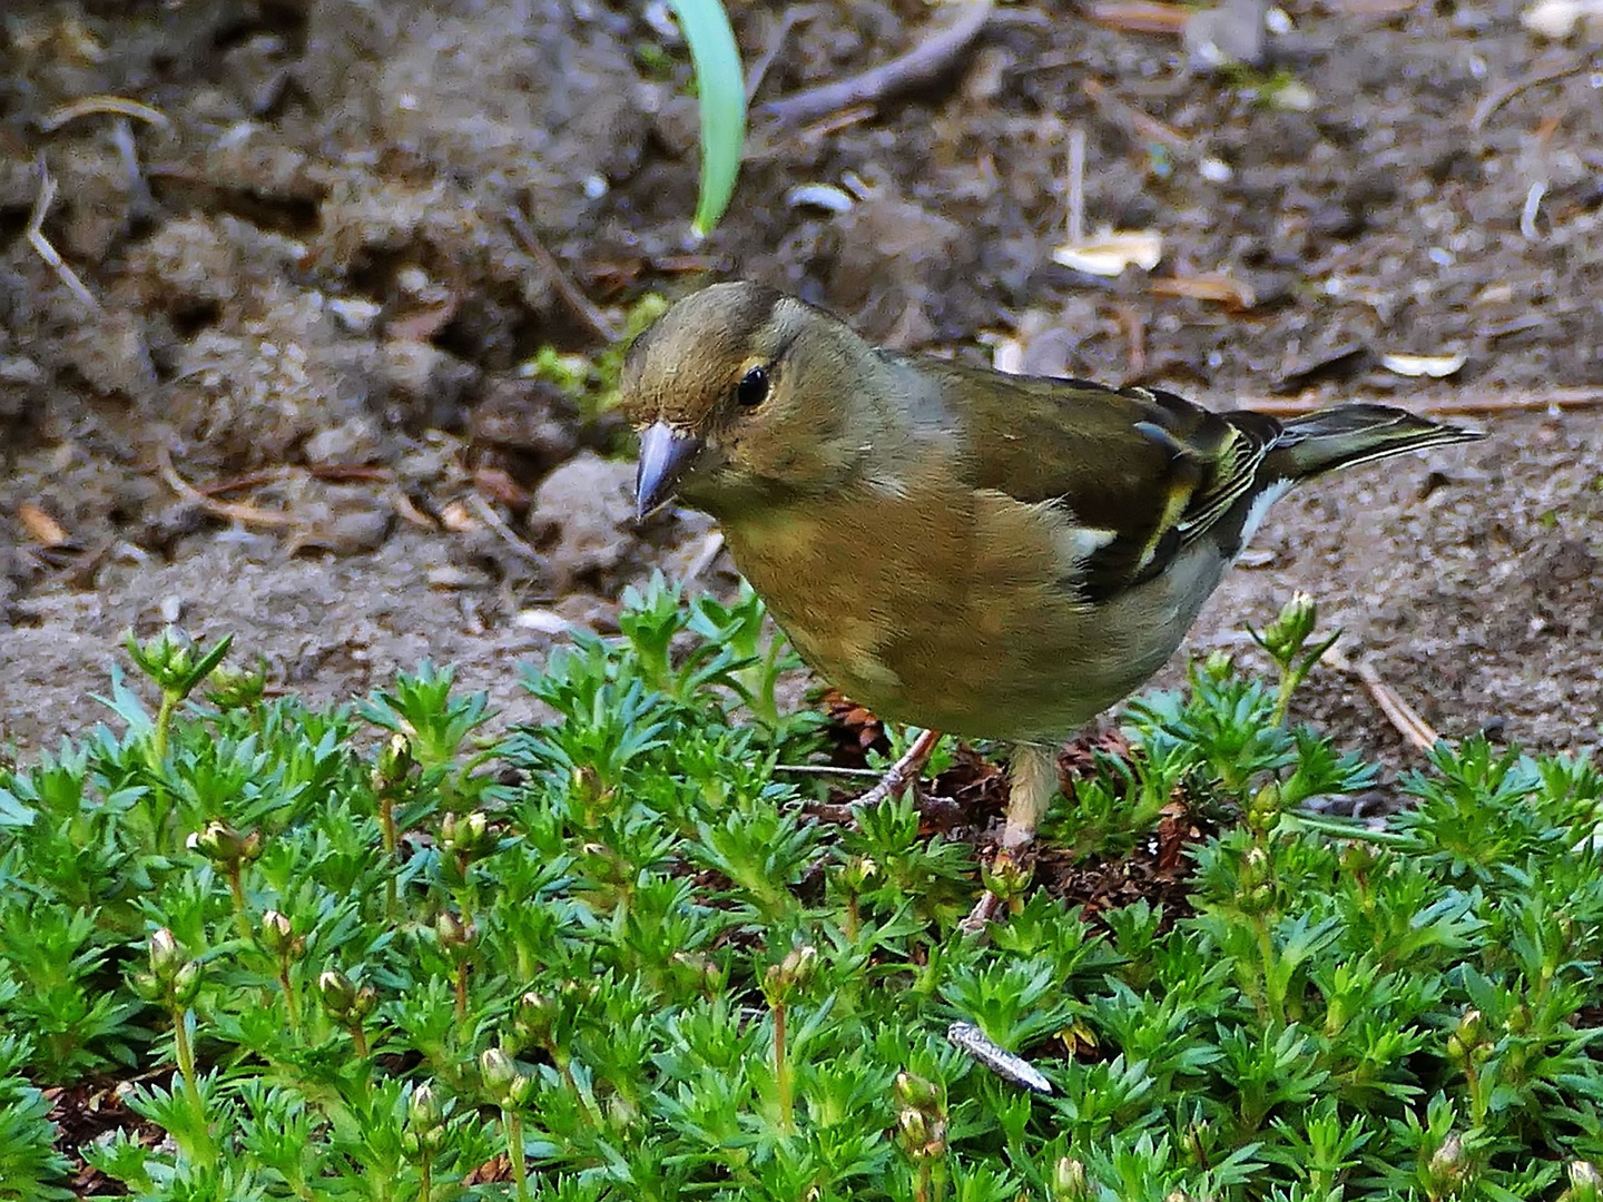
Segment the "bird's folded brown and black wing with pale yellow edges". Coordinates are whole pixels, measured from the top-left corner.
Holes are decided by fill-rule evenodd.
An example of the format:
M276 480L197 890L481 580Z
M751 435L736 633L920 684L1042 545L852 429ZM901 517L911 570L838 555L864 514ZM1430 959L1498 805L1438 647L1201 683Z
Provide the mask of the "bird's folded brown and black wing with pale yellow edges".
M1263 413L1213 413L1156 388L938 370L965 426L968 482L1063 510L1088 601L1151 579L1204 537L1234 553L1239 502L1262 487L1282 433Z

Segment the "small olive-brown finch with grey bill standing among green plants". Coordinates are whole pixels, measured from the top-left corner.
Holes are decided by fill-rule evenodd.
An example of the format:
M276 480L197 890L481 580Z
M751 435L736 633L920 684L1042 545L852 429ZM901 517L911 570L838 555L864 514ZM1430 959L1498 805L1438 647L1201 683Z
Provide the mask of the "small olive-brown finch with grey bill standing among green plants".
M1279 497L1484 436L1379 404L1281 422L885 349L749 280L672 305L619 386L640 518L673 498L710 514L802 660L923 729L862 800L915 779L938 732L1010 744L1013 861L1056 797L1056 748L1173 655Z

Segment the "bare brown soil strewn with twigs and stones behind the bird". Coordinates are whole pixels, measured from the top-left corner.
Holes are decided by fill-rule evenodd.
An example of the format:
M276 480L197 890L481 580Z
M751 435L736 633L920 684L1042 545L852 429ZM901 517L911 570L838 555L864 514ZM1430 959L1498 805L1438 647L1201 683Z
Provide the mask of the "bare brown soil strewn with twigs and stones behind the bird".
M1603 401L1597 30L1287 3L1262 66L1209 71L1112 5L1029 0L938 82L787 125L761 104L949 18L733 5L768 66L734 207L696 244L688 54L660 8L5 6L0 747L99 720L120 633L168 620L232 631L316 699L426 655L529 715L519 660L606 630L627 582L709 537L692 514L638 530L616 430L519 373L543 345L601 348L569 288L617 325L648 290L752 276L902 346L995 335L1034 370L1218 407ZM1153 272L1053 263L1076 128L1087 224L1161 232ZM1396 354L1464 365L1428 380ZM1306 489L1194 643L1241 644L1303 588L1444 734L1597 742L1600 415L1486 413L1483 444ZM1316 678L1303 713L1406 758L1351 676Z

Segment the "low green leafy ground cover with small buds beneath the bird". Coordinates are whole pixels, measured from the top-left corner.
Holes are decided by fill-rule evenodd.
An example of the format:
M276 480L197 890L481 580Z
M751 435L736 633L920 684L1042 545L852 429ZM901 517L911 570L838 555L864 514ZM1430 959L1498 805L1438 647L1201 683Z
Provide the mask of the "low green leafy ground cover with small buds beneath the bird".
M1595 1197L1584 758L1441 747L1385 830L1316 821L1374 772L1215 657L1047 833L1183 789L1191 914L1026 891L983 944L968 846L802 813L755 599L622 625L494 740L449 672L321 712L136 644L115 731L0 769L0 1199L69 1196L42 1090L103 1079L165 1135L85 1149L143 1199Z

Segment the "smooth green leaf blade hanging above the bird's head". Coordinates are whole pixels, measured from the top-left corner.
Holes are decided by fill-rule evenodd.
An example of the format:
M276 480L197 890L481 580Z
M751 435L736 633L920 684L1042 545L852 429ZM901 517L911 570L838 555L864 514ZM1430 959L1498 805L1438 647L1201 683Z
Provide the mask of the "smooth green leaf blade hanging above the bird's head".
M702 179L692 229L707 237L734 196L745 144L745 79L721 0L670 0L696 67L702 117Z

